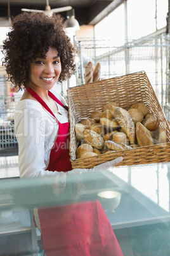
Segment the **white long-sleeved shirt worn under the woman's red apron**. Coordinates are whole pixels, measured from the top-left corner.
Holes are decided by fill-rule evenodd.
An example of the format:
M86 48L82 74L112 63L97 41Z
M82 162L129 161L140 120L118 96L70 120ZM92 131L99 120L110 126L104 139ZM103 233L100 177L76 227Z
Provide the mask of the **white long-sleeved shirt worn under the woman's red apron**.
M63 103L60 94L51 91ZM68 111L56 103L60 123L69 122ZM39 102L31 99L19 101L15 110L15 135L18 141L20 177L58 175L56 171L46 171L49 154L58 134L58 122ZM60 173L62 174L62 172Z

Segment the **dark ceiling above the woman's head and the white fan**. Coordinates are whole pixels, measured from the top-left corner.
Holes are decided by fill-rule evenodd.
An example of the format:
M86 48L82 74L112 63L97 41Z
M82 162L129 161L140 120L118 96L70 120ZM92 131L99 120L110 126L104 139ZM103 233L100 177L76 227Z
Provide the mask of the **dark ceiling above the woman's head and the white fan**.
M46 6L46 0L0 0L0 19L8 17L8 2L11 17L21 13L21 8L44 10ZM122 2L123 0L49 0L49 6L51 9L72 6L80 25L95 25ZM68 15L66 11L60 14L64 18Z

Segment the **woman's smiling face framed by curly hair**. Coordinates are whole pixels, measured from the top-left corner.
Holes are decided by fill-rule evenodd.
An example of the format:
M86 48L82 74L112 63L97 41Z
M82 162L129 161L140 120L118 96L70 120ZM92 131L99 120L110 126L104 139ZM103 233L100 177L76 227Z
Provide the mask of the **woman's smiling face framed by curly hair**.
M29 86L34 90L50 90L58 81L61 72L58 51L49 47L45 56L37 56L30 64Z

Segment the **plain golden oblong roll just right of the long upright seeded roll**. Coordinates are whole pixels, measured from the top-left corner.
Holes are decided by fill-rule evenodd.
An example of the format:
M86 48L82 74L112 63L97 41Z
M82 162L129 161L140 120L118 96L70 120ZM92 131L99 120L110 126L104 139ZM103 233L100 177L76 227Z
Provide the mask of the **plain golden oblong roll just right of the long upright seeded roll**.
M154 145L154 140L150 131L148 131L148 129L140 122L136 123L136 139L140 146Z

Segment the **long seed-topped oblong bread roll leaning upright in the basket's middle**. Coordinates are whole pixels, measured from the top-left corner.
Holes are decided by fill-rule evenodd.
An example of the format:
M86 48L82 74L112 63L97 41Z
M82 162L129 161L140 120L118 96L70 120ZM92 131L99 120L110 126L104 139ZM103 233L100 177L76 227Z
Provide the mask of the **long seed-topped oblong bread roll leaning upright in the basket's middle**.
M131 115L124 108L112 106L112 110L114 110L115 119L117 123L121 126L122 130L126 133L130 143L134 143L136 139L135 134L135 125L131 118Z

